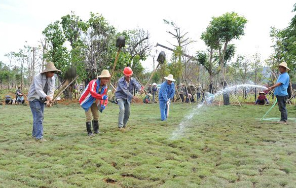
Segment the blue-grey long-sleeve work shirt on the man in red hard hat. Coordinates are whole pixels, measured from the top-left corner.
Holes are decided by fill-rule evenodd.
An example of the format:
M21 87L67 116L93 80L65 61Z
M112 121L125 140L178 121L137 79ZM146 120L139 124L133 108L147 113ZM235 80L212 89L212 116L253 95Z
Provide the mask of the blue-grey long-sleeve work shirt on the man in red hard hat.
M122 77L118 81L115 96L117 99L127 99L127 102L130 103L133 98L132 93L134 88L136 88L137 91L141 91L141 85L134 78L131 78L129 86L127 86L124 77Z

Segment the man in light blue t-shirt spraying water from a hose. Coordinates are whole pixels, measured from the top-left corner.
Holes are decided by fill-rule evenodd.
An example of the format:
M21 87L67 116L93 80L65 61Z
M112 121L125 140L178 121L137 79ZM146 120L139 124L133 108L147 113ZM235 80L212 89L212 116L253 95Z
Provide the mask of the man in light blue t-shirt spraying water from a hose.
M271 87L268 87L268 90L272 90L273 88L275 88L274 94L276 95L279 110L281 112L281 120L277 123L281 124L287 124L288 120L288 111L286 108L286 101L288 99L287 88L290 83L290 77L287 73L288 70L290 69L287 67L286 62L282 62L281 64L279 64L280 75L276 81L276 84Z

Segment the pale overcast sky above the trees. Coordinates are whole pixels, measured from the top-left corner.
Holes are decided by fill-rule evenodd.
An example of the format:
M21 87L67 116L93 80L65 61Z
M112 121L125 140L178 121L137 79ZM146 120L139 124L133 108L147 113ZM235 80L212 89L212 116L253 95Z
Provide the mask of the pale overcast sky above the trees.
M11 51L18 52L27 45L37 46L42 38L45 27L59 20L62 16L74 11L83 20L89 18L90 12L100 13L116 27L118 31L132 28L148 30L153 45L160 43L173 48L175 39L166 31L172 27L163 23L163 19L175 22L183 33L196 43L189 46L190 54L198 50L206 50L201 33L206 30L212 16L221 16L226 12L236 12L244 16L248 22L245 35L241 40L233 41L237 47L236 54L253 55L260 53L262 60L272 53L270 27L283 29L288 26L293 17L294 1L77 1L77 0L0 0L0 61L8 62L4 56ZM161 47L154 48L171 52ZM157 54L158 55L158 54ZM143 63L147 70L153 68L152 58Z

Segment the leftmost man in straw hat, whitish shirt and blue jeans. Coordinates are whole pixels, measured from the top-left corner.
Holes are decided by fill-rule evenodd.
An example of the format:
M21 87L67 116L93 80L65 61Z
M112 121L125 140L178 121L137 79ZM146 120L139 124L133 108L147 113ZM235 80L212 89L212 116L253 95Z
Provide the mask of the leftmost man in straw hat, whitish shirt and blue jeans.
M33 115L32 137L36 141L44 142L43 138L43 119L44 106L46 103L52 103L52 97L55 89L55 72L59 71L53 62L47 62L45 69L34 77L33 83L29 89L27 100Z

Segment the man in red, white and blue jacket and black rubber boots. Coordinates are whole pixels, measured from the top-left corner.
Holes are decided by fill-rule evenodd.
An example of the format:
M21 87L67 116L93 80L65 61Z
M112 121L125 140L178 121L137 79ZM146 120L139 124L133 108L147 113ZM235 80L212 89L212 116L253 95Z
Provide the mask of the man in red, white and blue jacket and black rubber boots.
M103 70L97 79L94 79L88 83L84 92L81 94L79 103L85 110L86 116L86 130L87 135L92 136L91 122L93 124L93 130L95 134L99 133L99 111L98 108L105 109L108 103L107 83L110 80L110 73L108 70ZM97 105L96 100L99 100ZM92 120L93 117L93 120Z

